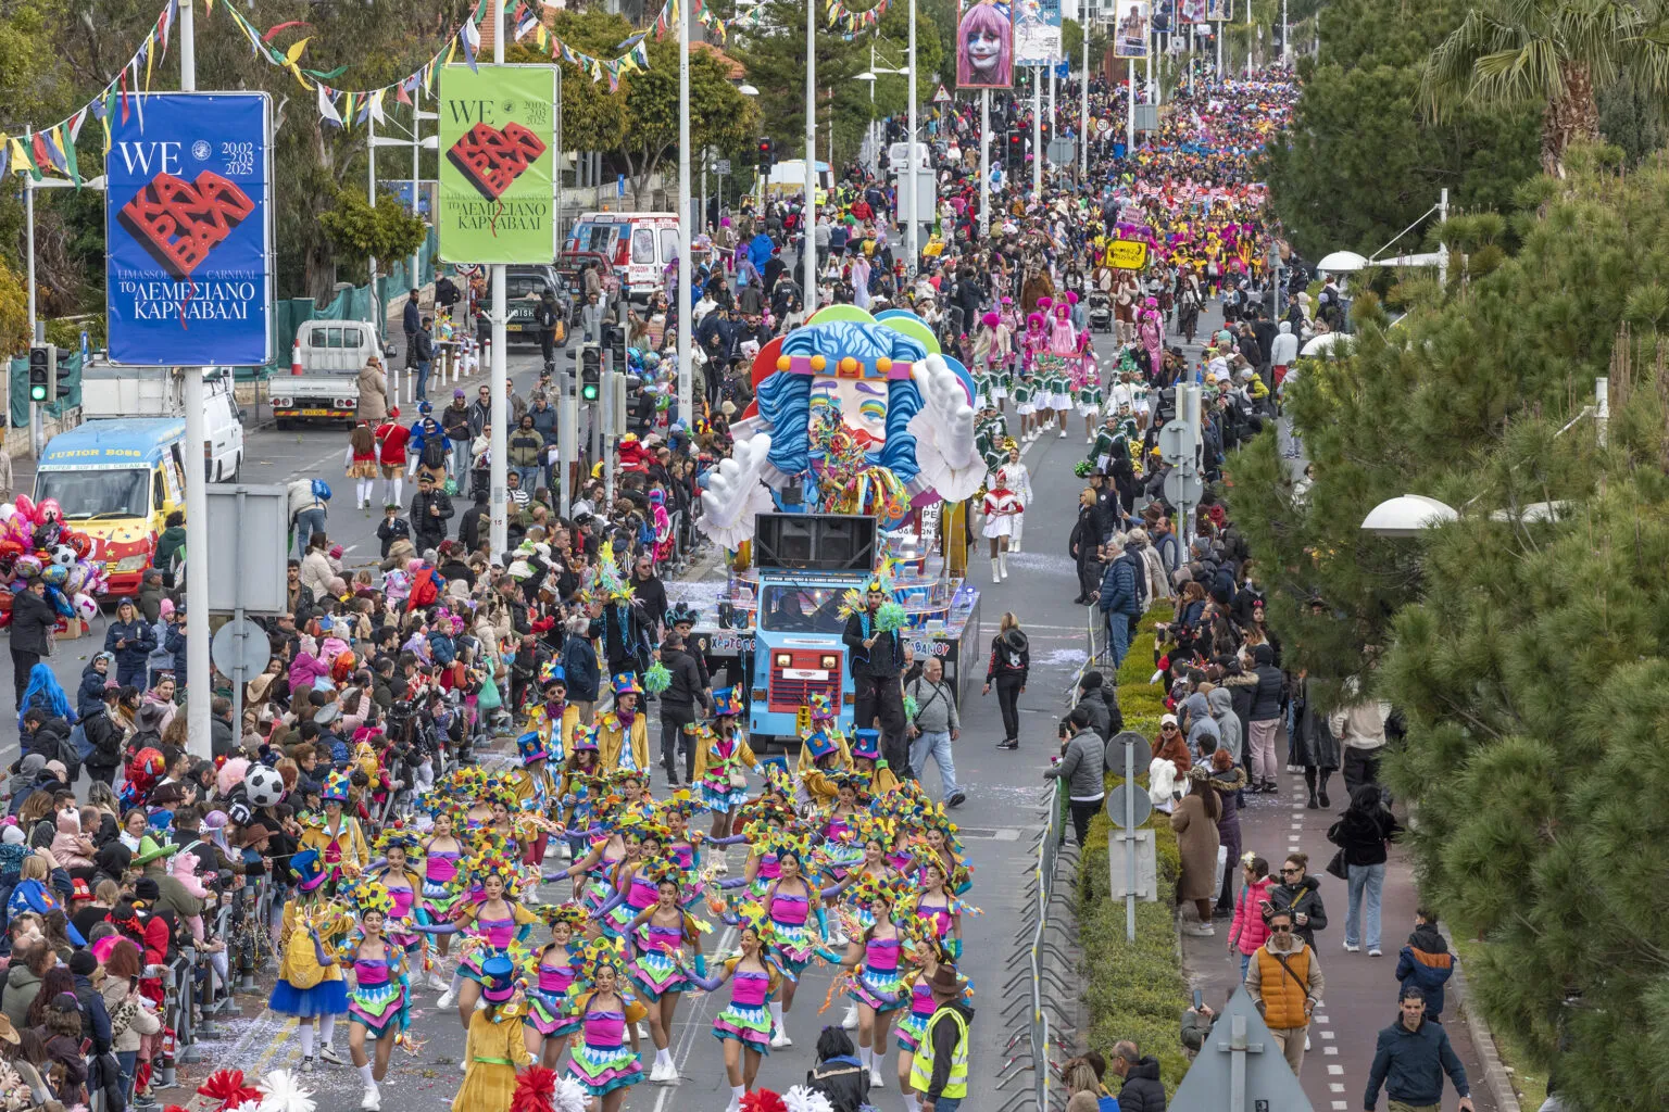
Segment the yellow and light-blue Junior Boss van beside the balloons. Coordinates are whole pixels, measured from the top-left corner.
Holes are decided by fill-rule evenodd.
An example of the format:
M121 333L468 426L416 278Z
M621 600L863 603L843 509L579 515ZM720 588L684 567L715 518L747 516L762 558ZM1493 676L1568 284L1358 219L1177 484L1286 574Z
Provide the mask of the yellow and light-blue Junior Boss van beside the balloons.
M169 513L185 508L185 420L88 420L47 442L35 500L55 498L63 520L92 537L110 595L139 594Z

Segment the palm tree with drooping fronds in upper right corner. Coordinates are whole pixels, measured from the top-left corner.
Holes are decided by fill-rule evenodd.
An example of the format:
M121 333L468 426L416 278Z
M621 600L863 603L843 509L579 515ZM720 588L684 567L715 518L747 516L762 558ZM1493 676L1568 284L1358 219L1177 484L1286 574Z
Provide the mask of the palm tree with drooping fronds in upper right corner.
M1664 0L1495 0L1472 8L1432 52L1420 83L1425 113L1464 103L1542 108L1542 170L1564 177L1564 152L1599 138L1596 85L1622 68L1669 87Z

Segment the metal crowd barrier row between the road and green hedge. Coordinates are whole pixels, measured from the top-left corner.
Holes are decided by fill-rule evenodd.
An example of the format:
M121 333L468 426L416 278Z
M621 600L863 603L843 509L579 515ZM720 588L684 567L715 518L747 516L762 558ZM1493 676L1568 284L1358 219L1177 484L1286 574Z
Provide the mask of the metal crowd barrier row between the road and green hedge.
M1060 780L1051 780L1043 797L1043 830L1038 834L1031 867L1031 880L1026 884L1026 897L1033 904L1031 920L1015 935L1015 954L1010 957L1010 969L1015 969L1001 994L1008 999L1003 1007L1003 1024L1013 1029L1005 1047L1003 1067L996 1074L996 1089L1008 1089L1016 1077L1030 1070L1030 1085L1010 1097L1001 1112L1053 1112L1065 1107L1065 1094L1051 1089L1055 1080L1055 1062L1050 1059L1050 1047L1065 1042L1066 1035L1077 1029L1075 1017L1065 1009L1078 999L1077 989L1055 969L1055 964L1073 969L1075 962L1051 932L1061 934L1068 929L1066 915L1056 914L1055 902L1070 897L1056 892L1055 874L1060 867L1065 842L1065 787ZM1018 992L1025 982L1025 992ZM1045 997L1043 987L1051 992Z

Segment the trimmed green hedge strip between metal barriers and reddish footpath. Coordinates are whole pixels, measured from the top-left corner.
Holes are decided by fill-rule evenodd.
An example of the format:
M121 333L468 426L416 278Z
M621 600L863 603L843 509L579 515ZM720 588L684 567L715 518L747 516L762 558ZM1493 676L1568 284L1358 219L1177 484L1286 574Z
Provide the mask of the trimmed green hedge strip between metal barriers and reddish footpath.
M1142 632L1118 670L1118 709L1125 729L1148 739L1158 735L1158 719L1165 714L1163 687L1148 687L1153 625L1168 619L1168 607L1150 610L1142 619ZM1108 775L1108 790L1120 780ZM1138 780L1147 782L1145 772ZM1107 834L1112 824L1105 814L1090 827L1090 847L1078 859L1078 937L1088 985L1088 1045L1110 1059L1115 1042L1135 1040L1143 1054L1158 1059L1165 1090L1175 1092L1188 1072L1178 1024L1190 1005L1190 994L1182 974L1173 912L1182 855L1168 819L1158 812L1153 817L1162 820L1157 825L1148 822L1158 857L1158 902L1137 904L1135 945L1125 942L1125 902L1108 899Z

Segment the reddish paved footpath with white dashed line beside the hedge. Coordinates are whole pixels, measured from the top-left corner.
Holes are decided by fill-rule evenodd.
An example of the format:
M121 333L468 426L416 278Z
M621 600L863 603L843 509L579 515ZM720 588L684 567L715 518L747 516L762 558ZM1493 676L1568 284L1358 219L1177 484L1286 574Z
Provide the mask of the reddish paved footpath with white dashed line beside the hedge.
M1303 777L1280 774L1280 792L1273 795L1247 795L1240 812L1240 840L1243 852L1253 852L1268 860L1270 872L1280 869L1287 854L1310 855L1310 875L1322 880L1322 904L1327 907L1327 927L1315 935L1317 955L1327 977L1322 1007L1310 1024L1310 1050L1303 1060L1303 1092L1317 1112L1347 1112L1362 1109L1362 1092L1374 1064L1374 1045L1380 1029L1397 1017L1397 954L1414 930L1414 870L1407 852L1392 849L1385 870L1384 912L1380 915L1380 947L1384 957L1369 957L1367 945L1357 954L1345 954L1345 882L1327 875L1327 862L1337 849L1327 840L1327 829L1344 810L1344 782L1334 775L1330 810L1308 810L1308 794ZM1233 862L1230 869L1237 869ZM1238 899L1240 879L1235 877ZM1227 949L1228 920L1217 920L1217 935L1210 939L1182 935L1183 965L1193 987L1205 994L1205 1002L1220 1009L1230 989L1240 980L1240 950ZM1460 1019L1460 1000L1450 979L1449 1000L1444 1005L1444 1027L1455 1054L1465 1065L1472 1085L1472 1102L1479 1112L1494 1112L1497 1104L1484 1084L1484 1069L1472 1045L1465 1022ZM1385 1097L1380 1095L1379 1107ZM1445 1085L1444 1107L1455 1107L1454 1089Z

